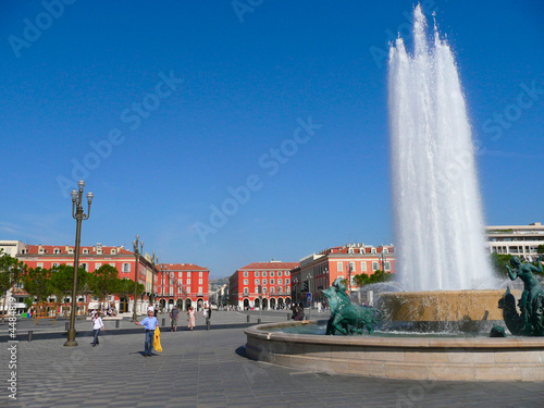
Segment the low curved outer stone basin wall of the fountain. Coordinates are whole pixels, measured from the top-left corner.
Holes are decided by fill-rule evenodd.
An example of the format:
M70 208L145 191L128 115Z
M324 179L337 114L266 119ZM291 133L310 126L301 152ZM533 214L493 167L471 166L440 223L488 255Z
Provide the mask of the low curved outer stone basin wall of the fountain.
M245 330L246 355L313 372L400 380L544 381L542 337L375 337L282 333L309 322Z

